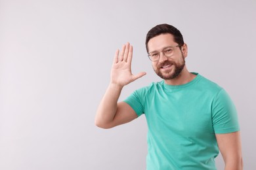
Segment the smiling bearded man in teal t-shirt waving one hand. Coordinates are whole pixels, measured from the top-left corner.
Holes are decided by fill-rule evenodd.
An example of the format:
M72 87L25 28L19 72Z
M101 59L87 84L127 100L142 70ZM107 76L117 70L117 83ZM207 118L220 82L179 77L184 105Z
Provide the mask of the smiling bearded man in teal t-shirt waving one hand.
M117 103L122 88L146 73L131 73L133 46L116 51L111 80L95 117L110 128L141 114L148 124L147 169L216 169L219 150L225 169L242 169L240 127L228 94L185 65L188 54L181 32L156 25L146 36L146 50L163 81L133 92Z

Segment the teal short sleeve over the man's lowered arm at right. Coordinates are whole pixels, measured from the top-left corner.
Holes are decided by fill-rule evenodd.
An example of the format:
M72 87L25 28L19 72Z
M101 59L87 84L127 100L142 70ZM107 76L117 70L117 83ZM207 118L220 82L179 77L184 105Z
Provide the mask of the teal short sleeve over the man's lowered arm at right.
M212 119L215 133L232 133L240 130L236 107L223 89L213 100Z

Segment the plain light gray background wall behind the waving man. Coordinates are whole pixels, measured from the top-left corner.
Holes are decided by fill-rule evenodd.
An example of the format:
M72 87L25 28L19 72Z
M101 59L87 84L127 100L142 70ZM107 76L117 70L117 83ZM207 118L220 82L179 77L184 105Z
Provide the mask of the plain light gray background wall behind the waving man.
M160 80L144 40L162 23L181 30L188 69L232 97L244 167L255 169L255 9L255 0L0 0L0 169L145 169L144 116L108 130L94 117L125 42L133 72L147 75L120 99Z

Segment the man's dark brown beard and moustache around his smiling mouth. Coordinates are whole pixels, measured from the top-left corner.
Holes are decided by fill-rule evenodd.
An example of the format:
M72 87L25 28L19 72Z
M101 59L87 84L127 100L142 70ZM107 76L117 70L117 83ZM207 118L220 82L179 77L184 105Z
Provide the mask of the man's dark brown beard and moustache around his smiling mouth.
M163 65L169 65L169 64L171 64L171 67L173 67L173 69L171 69L171 71L168 72L168 73L162 73L161 72L161 67ZM157 69L154 69L154 71L155 71L156 75L163 78L163 80L171 80L171 79L177 78L177 76L180 75L184 66L185 66L185 60L184 60L184 57L182 56L181 63L165 61L164 63L161 63L160 67L157 67Z

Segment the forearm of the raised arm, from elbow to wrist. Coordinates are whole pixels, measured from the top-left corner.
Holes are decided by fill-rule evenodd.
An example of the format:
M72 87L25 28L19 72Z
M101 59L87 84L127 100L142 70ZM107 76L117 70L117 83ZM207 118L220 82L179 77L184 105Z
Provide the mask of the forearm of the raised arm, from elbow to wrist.
M117 110L117 101L122 88L122 86L110 83L96 112L96 126L106 127L114 120Z

